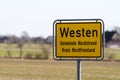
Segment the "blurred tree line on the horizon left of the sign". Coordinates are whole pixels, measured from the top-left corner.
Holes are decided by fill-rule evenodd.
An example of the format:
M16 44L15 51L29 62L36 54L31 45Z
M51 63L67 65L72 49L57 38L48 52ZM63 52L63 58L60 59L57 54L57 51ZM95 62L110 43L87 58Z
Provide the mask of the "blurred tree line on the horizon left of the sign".
M46 44L53 43L53 36L48 36L47 38L43 37L30 37L27 32L23 32L21 37L16 35L1 35L0 36L0 43L40 43L44 41Z

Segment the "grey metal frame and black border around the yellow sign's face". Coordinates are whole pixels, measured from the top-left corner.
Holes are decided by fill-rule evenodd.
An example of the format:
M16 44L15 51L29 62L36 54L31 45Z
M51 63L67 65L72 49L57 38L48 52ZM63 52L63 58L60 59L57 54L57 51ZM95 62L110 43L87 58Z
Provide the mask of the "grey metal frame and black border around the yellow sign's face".
M85 22L84 22L85 21ZM100 56L57 56L57 24L83 24L83 23L100 23ZM102 36L102 31L103 31L103 36ZM72 20L55 20L53 23L53 57L56 60L102 60L104 58L104 44L102 44L102 41L104 43L104 22L101 19L72 19ZM103 39L102 39L103 37ZM103 53L103 54L102 54Z

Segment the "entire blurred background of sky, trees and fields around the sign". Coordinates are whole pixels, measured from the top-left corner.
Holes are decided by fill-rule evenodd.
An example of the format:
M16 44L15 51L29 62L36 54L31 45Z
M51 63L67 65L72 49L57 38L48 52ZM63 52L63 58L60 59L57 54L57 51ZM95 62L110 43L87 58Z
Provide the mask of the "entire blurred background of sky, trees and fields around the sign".
M82 80L120 79L119 0L1 0L0 80L75 80L75 61L53 60L56 19L102 19L103 61L82 62Z

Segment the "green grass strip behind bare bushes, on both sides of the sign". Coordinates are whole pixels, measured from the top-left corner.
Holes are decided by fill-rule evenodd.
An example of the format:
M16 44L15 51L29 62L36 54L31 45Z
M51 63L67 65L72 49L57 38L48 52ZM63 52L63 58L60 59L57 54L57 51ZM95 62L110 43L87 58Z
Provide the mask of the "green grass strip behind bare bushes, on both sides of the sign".
M44 55L42 49L41 49L40 44L25 44L23 46L23 57L26 56L27 53L31 53L35 55L36 53L40 53L41 55ZM45 47L50 53L50 58L52 58L52 47L50 45L46 45ZM0 57L8 56L7 51L8 49L10 50L12 57L19 57L19 48L17 44L12 44L11 46L8 46L5 43L0 44ZM104 59L108 59L110 55L114 55L114 59L120 60L120 49L111 49L111 48L105 48L105 54L104 54Z

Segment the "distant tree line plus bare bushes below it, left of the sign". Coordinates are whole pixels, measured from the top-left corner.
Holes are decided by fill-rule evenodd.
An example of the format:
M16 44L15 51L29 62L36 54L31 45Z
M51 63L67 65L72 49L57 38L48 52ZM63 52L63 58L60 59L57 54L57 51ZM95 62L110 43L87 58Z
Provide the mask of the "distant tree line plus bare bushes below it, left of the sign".
M45 44L48 44L52 46L53 43L53 36L48 36L47 38L43 37L30 37L27 32L23 32L21 37L15 36L15 35L7 35L7 36L0 36L0 43L5 43L8 45L7 48L7 57L12 58L11 54L11 45L16 44L19 48L19 58L23 58L23 47L25 44L33 43L38 44L41 46L42 51L44 52L44 58L48 59L48 49L46 48ZM31 58L31 54L27 54L28 58ZM41 55L37 54L36 58L39 58Z

